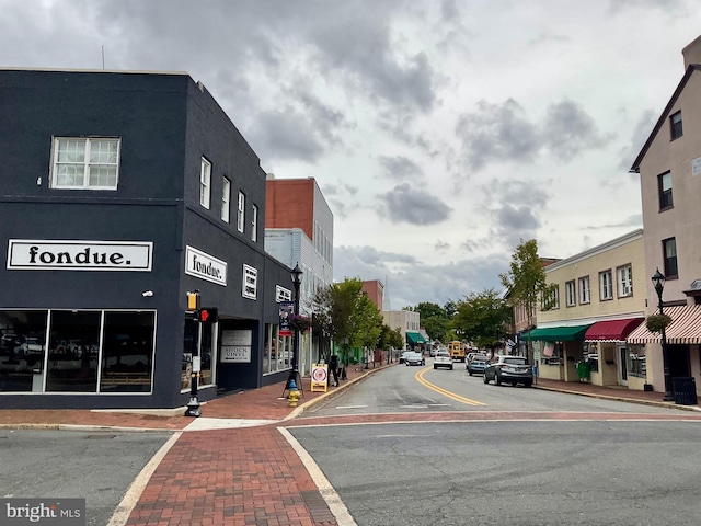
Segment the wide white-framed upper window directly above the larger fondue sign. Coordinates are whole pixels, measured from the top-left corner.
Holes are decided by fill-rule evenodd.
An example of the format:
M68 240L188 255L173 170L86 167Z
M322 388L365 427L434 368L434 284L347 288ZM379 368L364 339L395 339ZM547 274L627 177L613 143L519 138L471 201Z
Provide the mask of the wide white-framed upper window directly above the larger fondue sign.
M51 187L117 190L119 149L117 138L56 137Z

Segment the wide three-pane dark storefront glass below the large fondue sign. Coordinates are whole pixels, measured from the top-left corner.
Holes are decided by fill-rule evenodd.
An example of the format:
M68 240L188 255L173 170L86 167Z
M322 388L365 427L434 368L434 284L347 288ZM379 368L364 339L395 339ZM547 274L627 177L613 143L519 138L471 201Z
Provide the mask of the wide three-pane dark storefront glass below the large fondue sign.
M0 392L150 392L154 311L0 311Z

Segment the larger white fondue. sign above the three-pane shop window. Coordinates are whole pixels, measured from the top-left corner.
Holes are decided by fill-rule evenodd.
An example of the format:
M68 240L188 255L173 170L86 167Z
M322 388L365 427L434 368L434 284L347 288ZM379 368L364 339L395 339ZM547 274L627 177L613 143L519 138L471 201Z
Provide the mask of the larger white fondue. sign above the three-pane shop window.
M150 241L11 239L8 270L150 272Z

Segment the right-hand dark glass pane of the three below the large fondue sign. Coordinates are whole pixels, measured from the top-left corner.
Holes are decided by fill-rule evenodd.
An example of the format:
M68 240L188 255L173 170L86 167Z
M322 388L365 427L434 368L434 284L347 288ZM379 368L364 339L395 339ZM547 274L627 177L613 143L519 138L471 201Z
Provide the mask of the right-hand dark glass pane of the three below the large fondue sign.
M151 390L153 328L153 312L105 312L102 392Z

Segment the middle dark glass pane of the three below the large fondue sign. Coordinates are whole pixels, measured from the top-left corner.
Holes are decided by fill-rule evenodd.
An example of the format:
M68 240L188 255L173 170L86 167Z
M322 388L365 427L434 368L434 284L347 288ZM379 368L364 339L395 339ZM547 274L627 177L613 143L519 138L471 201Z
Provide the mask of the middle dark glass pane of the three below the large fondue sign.
M53 310L46 391L95 392L102 311Z

